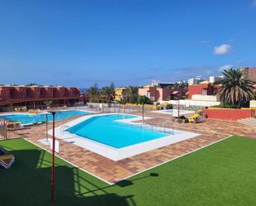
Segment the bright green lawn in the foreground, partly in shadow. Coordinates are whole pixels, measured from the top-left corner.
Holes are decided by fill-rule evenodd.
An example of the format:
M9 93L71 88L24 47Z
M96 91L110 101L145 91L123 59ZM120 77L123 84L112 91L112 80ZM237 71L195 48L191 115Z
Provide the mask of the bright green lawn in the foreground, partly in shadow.
M231 137L118 185L57 158L54 204L50 154L22 139L0 141L0 146L16 156L12 168L0 169L1 206L256 204L256 140L249 138Z

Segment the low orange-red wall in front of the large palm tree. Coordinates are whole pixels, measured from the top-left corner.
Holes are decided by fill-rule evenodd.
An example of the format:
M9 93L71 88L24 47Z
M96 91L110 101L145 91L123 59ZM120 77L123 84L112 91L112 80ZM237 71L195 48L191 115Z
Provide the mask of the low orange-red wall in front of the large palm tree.
M204 109L204 113L207 118L233 121L255 117L255 110L249 108L208 108Z

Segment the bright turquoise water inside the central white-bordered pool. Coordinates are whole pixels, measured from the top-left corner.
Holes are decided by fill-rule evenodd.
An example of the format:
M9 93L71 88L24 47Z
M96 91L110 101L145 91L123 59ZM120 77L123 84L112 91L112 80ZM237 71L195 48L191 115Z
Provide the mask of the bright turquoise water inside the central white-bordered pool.
M133 117L135 116L122 114L90 117L65 131L115 148L132 146L167 136L161 132L152 132L149 128L141 129L141 127L134 127L133 125L116 121Z

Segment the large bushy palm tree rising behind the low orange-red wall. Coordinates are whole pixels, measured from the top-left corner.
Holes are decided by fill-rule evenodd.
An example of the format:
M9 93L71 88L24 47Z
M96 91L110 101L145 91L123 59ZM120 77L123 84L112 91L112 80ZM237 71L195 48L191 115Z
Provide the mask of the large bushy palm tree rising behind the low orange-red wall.
M215 84L220 84L217 96L222 105L231 104L241 107L255 98L254 81L244 78L244 72L239 69L225 69L224 78Z

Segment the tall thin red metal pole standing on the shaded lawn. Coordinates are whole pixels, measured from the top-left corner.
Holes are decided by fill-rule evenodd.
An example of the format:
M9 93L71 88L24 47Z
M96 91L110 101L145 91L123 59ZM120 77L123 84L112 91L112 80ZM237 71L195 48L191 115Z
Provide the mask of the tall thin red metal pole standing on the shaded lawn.
M52 112L53 122L52 122L52 159L51 159L51 202L55 198L55 152L56 152L56 137L55 137L55 120L56 112Z

